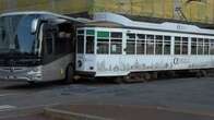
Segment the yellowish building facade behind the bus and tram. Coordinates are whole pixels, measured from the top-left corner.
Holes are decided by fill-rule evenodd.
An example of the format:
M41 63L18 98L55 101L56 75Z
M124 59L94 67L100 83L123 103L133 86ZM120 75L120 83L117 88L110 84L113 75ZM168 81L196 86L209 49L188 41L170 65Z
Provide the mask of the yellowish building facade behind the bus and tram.
M214 0L0 0L1 13L26 10L45 10L63 14L115 12L214 23Z

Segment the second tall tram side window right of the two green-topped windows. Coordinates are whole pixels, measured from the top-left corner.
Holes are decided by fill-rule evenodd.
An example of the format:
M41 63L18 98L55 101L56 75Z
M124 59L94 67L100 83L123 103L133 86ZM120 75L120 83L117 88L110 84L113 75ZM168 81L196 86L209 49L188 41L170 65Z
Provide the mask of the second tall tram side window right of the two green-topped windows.
M145 53L145 35L138 34L136 55L144 55L144 53Z

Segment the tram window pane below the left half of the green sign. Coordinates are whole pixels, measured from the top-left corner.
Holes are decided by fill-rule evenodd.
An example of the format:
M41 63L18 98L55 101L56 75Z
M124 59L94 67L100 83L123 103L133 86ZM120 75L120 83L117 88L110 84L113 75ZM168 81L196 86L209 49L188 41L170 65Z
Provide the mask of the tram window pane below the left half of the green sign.
M108 55L109 53L109 39L97 39L97 53Z

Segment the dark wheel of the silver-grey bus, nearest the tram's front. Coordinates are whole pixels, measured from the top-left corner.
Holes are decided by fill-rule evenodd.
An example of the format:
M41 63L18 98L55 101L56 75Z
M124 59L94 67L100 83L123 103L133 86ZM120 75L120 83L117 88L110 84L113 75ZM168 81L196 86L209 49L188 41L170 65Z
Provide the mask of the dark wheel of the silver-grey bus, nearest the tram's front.
M66 83L73 83L74 82L74 71L73 71L73 67L72 65L69 65L67 68L67 73L66 73L66 79L64 79L64 82Z

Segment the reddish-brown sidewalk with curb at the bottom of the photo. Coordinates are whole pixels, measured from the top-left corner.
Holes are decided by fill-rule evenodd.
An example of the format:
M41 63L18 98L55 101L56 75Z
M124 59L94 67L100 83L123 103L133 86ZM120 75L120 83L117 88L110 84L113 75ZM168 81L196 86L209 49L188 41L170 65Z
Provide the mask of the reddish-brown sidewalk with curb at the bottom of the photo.
M211 112L145 106L70 105L46 108L51 120L214 120Z

